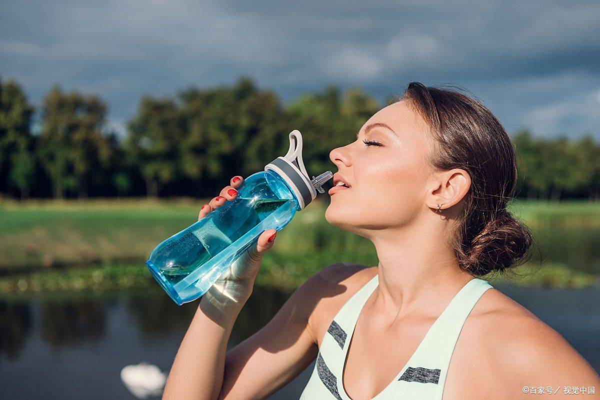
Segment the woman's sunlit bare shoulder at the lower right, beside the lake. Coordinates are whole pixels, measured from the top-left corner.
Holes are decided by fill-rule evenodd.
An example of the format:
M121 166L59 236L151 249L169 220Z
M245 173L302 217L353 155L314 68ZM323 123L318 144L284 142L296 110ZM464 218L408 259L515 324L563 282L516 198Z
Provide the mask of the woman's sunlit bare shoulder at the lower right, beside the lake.
M477 368L512 395L524 386L600 387L596 371L562 335L500 290L488 289L470 317L464 328L481 354Z

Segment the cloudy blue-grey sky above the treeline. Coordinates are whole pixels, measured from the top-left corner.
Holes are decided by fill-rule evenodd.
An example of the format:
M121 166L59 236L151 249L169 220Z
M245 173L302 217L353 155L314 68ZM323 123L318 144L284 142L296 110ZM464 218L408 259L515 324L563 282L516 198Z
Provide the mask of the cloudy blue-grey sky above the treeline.
M509 134L600 140L599 21L598 0L0 0L0 77L35 105L54 84L100 95L119 132L142 95L247 75L285 103L454 84Z

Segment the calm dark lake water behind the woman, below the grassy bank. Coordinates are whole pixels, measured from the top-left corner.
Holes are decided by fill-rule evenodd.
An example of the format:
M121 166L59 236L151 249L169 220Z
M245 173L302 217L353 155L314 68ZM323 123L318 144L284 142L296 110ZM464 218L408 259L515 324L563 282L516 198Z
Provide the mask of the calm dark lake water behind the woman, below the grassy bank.
M600 287L494 287L556 329L600 369ZM289 294L255 287L229 349L262 328ZM146 361L167 371L196 307L197 301L176 306L158 287L143 293L0 300L0 398L136 399L122 384L121 369ZM313 368L314 362L270 399L299 398Z

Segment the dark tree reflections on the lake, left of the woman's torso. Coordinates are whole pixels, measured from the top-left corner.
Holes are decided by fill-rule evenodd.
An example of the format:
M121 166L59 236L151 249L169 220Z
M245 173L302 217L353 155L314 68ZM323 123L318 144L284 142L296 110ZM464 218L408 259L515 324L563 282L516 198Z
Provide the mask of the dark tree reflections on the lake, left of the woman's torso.
M271 320L290 293L255 288L239 313L231 340L238 343ZM38 331L53 351L101 341L107 331L111 307L122 307L144 340L185 332L198 302L178 307L161 290L92 298L0 300L0 351L7 359L19 356L32 329L32 309L38 312Z

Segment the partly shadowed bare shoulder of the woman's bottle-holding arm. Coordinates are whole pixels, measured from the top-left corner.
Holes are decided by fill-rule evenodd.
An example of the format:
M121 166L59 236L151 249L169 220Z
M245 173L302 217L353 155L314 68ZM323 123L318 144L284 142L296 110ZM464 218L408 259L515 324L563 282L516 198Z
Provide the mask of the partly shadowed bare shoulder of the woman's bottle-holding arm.
M303 296L315 304L308 316L308 326L316 344L320 346L342 305L376 274L376 266L339 262L326 266L305 283Z

